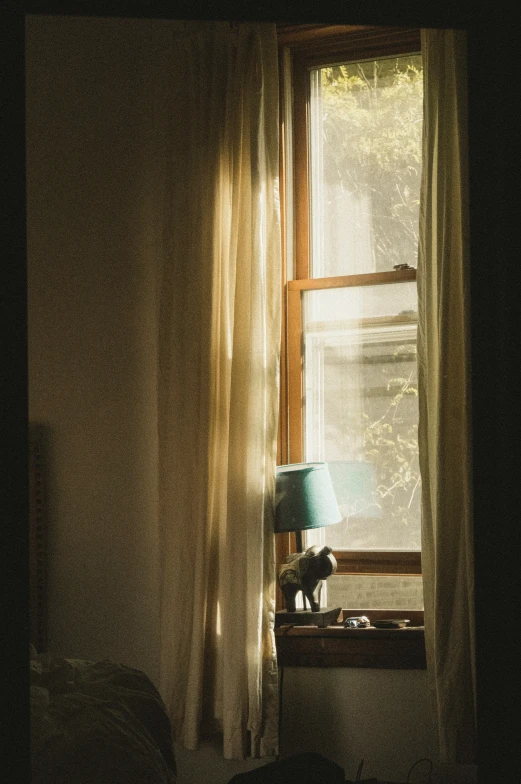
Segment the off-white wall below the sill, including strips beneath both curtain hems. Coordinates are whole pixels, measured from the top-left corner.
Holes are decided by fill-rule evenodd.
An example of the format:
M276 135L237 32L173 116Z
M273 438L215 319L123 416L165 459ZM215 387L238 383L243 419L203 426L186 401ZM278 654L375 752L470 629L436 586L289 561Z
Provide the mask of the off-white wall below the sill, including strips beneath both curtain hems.
M442 765L430 718L424 670L288 667L283 674L281 756L317 752L346 778L406 782L415 762L433 762L433 784L472 784L474 766ZM218 738L193 752L176 746L180 784L227 784L239 772L272 760L223 760ZM419 763L411 782L428 781Z

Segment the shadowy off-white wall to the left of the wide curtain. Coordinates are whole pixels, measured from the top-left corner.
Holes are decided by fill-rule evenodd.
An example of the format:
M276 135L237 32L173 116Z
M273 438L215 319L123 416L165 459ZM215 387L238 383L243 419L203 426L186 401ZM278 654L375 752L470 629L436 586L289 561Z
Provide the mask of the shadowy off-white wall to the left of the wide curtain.
M50 647L157 680L149 33L28 19L29 394L50 439Z

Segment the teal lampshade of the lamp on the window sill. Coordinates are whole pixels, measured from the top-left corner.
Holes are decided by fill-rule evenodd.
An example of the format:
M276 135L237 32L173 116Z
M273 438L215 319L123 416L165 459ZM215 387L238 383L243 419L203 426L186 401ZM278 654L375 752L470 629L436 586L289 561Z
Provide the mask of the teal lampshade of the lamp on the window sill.
M277 467L275 533L323 528L342 520L327 463Z

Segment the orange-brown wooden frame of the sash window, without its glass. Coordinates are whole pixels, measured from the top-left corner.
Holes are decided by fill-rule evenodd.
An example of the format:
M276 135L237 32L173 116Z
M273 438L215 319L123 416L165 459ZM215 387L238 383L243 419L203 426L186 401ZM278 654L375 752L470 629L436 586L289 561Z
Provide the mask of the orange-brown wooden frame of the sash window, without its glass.
M308 154L308 72L340 62L363 60L421 51L420 30L327 25L279 25L281 50L281 205L283 232L293 231L294 277L287 279L287 259L283 253L283 334L281 352L281 416L279 464L303 459L302 428L302 292L347 286L379 285L416 280L415 269L330 278L310 277L309 154ZM284 203L288 165L285 158L287 129L284 122L283 50L290 52L292 88L292 155L296 165L292 178L292 227L285 226ZM283 234L283 247L286 247ZM295 549L294 534L276 537L277 565ZM421 553L409 551L335 551L337 574L421 575ZM282 607L280 591L277 605ZM410 611L397 611L403 613ZM404 617L408 617L405 615ZM423 618L423 613L421 613Z

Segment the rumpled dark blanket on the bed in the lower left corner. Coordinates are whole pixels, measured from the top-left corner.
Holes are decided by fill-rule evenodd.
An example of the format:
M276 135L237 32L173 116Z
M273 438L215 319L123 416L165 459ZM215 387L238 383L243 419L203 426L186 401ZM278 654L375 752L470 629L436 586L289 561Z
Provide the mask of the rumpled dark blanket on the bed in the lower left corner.
M141 671L31 655L32 784L175 784L163 701Z

